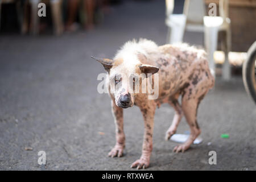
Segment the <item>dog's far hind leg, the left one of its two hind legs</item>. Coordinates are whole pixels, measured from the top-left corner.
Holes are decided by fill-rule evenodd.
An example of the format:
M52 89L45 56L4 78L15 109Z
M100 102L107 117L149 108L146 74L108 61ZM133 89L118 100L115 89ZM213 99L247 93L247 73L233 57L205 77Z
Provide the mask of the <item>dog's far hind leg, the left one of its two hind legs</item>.
M180 120L183 116L182 108L179 104L179 101L177 100L179 98L179 94L176 94L174 97L170 97L168 100L168 104L170 104L172 107L174 107L175 115L174 119L172 119L172 124L169 127L169 129L166 131L166 140L169 140L172 135L176 133L177 127L179 126Z

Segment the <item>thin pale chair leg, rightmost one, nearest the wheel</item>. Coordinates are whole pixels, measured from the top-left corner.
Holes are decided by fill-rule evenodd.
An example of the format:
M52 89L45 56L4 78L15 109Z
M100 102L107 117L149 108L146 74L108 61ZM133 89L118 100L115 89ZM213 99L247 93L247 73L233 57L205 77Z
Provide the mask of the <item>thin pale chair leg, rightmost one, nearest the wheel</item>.
M231 50L231 31L230 29L226 31L225 36L225 62L222 67L222 78L223 80L230 80L231 77L231 70L230 70L230 64L229 64L229 52Z

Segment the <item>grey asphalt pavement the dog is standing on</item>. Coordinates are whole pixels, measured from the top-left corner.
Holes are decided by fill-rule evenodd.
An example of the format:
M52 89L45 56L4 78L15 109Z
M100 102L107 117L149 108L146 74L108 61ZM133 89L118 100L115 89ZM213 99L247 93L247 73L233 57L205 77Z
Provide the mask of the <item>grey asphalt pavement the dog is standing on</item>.
M141 155L142 115L138 107L125 110L125 156L108 158L115 143L110 98L97 93L97 75L104 69L90 56L112 57L132 38L163 44L167 32L163 2L113 7L104 23L90 32L59 38L1 37L0 169L130 170ZM202 36L186 34L185 41L201 44ZM256 169L256 109L241 77L230 82L217 78L215 89L199 107L203 143L184 154L174 154L176 143L164 141L172 115L174 110L167 105L156 111L149 170ZM183 119L178 133L186 130ZM230 138L222 139L222 133ZM41 150L47 155L45 167L38 165ZM217 152L217 165L208 164L211 150Z

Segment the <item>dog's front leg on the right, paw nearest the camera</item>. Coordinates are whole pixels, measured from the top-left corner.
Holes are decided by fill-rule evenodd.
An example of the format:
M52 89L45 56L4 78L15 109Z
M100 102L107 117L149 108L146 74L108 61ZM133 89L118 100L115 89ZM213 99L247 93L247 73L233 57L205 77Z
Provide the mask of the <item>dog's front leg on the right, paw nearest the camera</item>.
M141 112L144 118L144 136L142 145L141 158L136 160L131 167L137 167L137 169L147 168L150 164L150 155L153 148L152 137L154 129L154 115L155 104L148 103L146 106L141 107Z

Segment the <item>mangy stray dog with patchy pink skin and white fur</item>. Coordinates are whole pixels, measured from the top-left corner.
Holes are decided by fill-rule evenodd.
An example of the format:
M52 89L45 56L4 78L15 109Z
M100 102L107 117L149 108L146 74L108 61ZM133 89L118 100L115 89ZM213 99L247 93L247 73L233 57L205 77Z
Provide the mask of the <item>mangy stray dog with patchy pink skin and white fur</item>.
M99 61L108 72L112 111L115 121L116 143L109 156L121 157L125 148L123 133L123 108L138 106L144 119L144 137L141 158L131 167L147 168L150 164L152 151L152 134L156 107L168 103L174 107L175 115L171 126L166 131L166 140L176 133L177 126L183 115L190 127L190 135L186 142L174 148L175 152L184 152L201 133L197 123L197 109L200 101L214 85L214 77L210 73L206 53L202 49L189 47L187 44L157 46L154 42L140 39L125 43L114 59ZM135 87L142 89L145 74L152 78L154 92L158 89L159 96L148 99L147 93L133 92ZM154 78L158 74L158 83ZM146 78L147 79L147 78ZM135 82L138 82L135 86ZM114 89L114 90L113 90ZM178 101L181 96L181 104Z

